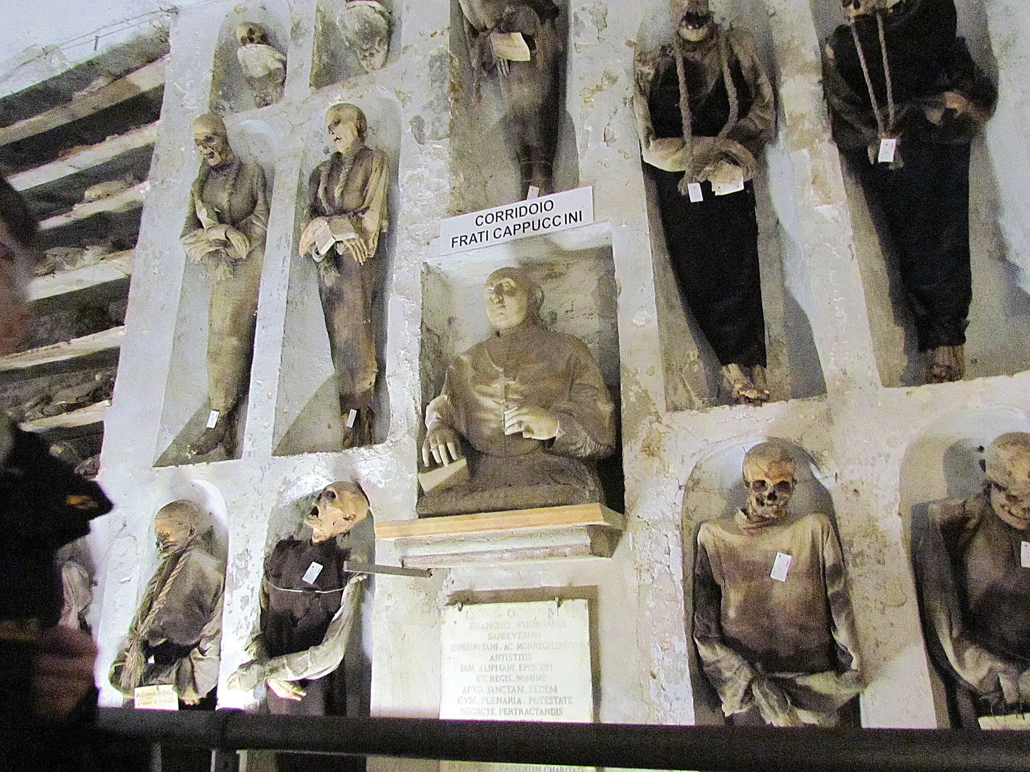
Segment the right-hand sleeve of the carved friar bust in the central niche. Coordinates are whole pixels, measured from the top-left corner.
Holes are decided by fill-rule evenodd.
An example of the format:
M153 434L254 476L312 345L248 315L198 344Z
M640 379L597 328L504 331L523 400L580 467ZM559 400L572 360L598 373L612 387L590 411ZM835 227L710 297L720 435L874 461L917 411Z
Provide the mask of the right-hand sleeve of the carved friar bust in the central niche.
M556 456L605 458L615 450L615 405L590 350L574 341L569 394L551 405L558 433L547 449Z

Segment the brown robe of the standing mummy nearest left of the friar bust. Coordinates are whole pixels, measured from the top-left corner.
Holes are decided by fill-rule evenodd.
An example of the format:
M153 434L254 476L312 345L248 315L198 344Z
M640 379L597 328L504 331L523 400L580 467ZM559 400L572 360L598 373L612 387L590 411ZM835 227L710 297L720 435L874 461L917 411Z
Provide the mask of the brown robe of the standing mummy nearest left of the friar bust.
M360 265L346 249L333 250L318 264L318 293L344 412L371 407L378 374L371 316L381 270L374 258L389 221L386 172L386 155L363 146L350 157L334 153L308 183L309 216L346 217L369 255Z

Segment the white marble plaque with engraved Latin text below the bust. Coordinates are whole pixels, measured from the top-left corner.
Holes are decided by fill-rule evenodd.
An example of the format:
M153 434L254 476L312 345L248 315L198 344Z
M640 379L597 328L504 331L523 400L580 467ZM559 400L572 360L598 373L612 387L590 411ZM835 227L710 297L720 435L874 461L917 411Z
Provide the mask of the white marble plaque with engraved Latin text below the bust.
M441 718L591 722L583 599L444 608Z

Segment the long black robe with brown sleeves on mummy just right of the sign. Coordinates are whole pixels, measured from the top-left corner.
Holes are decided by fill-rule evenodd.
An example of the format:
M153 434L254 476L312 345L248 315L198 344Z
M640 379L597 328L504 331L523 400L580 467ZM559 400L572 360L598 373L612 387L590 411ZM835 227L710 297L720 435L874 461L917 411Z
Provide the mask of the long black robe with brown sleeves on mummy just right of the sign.
M720 36L737 101L737 118L731 126L727 126L731 105ZM684 57L693 152L689 160L681 152L672 164L659 160L651 148L654 139L683 137L675 55L667 47L640 55L638 65L633 109L677 281L721 364L764 365L765 321L751 178L757 171L755 154L772 136L775 104L754 41L743 31L717 29L703 56ZM720 159L741 168L745 189L715 196L711 182L703 180L703 201L691 203L680 190L683 170L700 173Z

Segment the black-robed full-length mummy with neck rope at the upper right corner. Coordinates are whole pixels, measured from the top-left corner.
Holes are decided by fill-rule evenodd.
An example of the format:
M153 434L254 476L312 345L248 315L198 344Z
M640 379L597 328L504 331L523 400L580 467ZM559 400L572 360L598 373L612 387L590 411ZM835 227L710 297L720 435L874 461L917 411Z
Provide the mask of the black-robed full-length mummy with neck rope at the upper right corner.
M995 89L955 35L953 0L851 0L844 10L849 22L823 52L833 138L883 212L927 382L957 381L972 297L969 142ZM881 154L884 139L897 140L893 156Z

